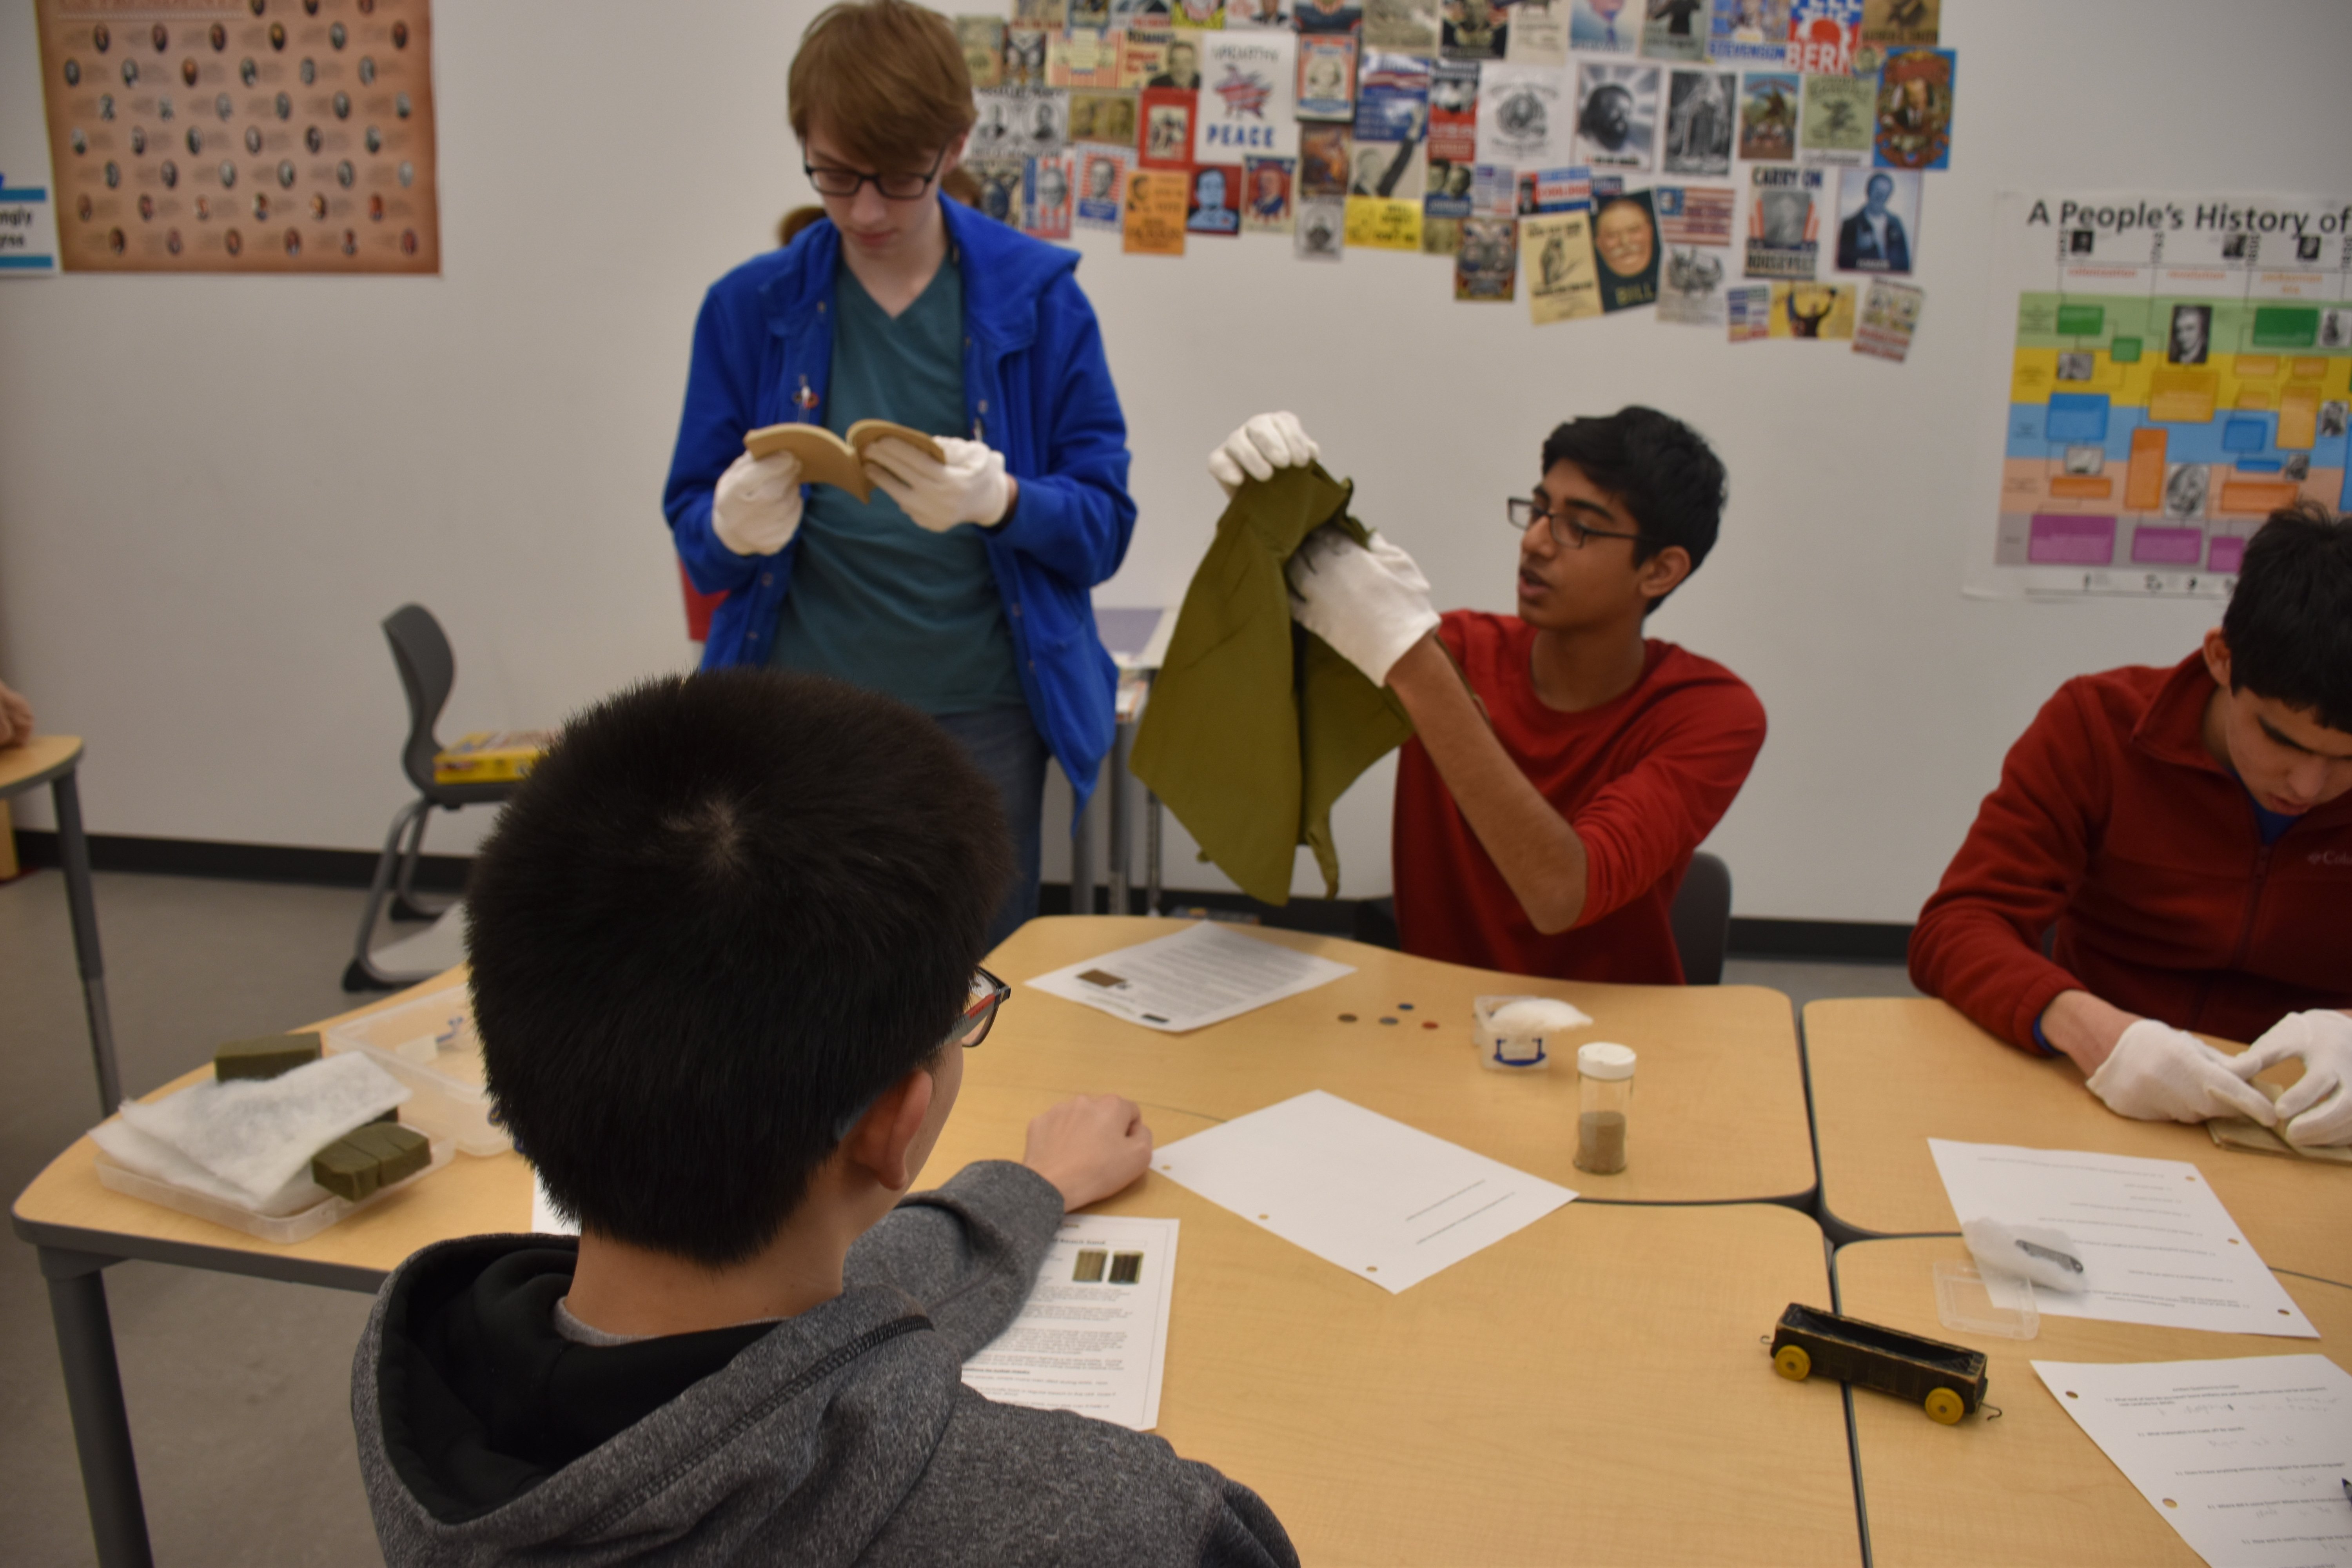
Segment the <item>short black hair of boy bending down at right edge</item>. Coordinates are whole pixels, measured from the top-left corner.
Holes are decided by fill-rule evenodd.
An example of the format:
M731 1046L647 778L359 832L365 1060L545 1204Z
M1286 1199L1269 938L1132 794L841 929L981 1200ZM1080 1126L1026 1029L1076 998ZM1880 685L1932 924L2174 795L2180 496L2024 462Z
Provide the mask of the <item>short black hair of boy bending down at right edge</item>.
M2246 541L2220 635L2232 691L2352 733L2352 520L2319 501L2272 512Z

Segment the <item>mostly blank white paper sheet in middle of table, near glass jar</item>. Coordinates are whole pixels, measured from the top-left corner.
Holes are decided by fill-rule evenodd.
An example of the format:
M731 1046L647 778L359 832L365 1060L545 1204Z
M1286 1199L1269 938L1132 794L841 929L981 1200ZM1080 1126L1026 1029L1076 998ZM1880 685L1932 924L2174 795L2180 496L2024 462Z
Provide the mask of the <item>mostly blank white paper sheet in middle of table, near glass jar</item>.
M1576 1199L1319 1088L1181 1138L1152 1168L1390 1293Z

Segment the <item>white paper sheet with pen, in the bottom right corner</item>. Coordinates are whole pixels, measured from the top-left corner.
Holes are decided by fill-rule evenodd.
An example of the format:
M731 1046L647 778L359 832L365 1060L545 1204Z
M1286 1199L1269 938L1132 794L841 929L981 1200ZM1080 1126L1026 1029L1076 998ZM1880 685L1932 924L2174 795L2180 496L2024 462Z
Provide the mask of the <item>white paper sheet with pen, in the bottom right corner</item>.
M2213 1568L2352 1566L2352 1373L2326 1356L2034 1371Z

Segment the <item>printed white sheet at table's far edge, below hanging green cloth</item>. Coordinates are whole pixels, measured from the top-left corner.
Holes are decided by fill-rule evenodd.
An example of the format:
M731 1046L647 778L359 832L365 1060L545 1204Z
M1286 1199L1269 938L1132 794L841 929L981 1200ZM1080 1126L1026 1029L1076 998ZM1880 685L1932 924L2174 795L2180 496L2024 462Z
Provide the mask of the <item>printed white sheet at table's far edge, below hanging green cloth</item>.
M1176 1034L1352 973L1352 964L1261 943L1204 919L1176 936L1037 976L1030 985L1103 1009L1112 1018L1141 1023L1145 1030Z

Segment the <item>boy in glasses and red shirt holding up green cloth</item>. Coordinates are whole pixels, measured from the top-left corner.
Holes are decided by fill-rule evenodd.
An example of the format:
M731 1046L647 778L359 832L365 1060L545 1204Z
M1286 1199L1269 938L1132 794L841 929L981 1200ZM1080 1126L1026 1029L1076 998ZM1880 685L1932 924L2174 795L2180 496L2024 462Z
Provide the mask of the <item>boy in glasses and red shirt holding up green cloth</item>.
M1218 482L1317 456L1261 414ZM1406 952L1479 969L1679 985L1668 912L1691 853L1764 745L1764 705L1722 665L1642 637L1715 545L1724 465L1656 409L1576 418L1508 503L1519 614L1437 616L1414 559L1322 529L1291 557L1291 614L1414 719L1392 867Z

